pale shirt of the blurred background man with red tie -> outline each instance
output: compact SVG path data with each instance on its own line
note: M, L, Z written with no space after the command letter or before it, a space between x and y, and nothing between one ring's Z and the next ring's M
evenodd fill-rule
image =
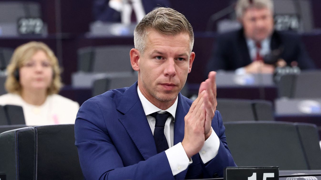
M264 39L263 41L261 41L261 49L259 51L261 57L265 57L267 54L269 54L271 52L270 43L271 43L271 38L270 37L268 37L268 38ZM254 40L247 39L246 40L246 44L247 44L247 49L248 49L248 53L250 55L251 60L255 61L257 47L256 47L256 44L255 44ZM235 73L236 74L245 74L246 73L245 72L245 68L244 67L237 68L235 70Z

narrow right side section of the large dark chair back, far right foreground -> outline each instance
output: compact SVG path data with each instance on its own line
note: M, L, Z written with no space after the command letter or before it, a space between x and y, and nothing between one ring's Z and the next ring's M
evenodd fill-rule
M294 123L298 129L308 168L321 169L321 149L317 126L310 123Z

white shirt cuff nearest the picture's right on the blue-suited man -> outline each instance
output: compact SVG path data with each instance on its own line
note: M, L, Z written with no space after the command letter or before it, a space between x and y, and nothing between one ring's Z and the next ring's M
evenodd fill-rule
M207 163L215 158L220 148L220 139L212 128L212 134L206 139L202 149L198 152L201 156L203 163Z

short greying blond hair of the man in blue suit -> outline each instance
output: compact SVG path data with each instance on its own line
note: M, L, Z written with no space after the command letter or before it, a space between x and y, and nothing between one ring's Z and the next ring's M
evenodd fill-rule
M192 25L186 17L171 8L160 7L144 16L134 30L134 45L141 54L146 47L146 36L151 30L156 30L162 35L178 35L187 33L189 35L189 48L192 52L194 45L194 32Z

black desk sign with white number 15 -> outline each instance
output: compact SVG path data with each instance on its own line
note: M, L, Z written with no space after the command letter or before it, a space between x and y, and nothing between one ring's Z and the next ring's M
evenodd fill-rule
M279 180L279 167L227 167L224 180Z

